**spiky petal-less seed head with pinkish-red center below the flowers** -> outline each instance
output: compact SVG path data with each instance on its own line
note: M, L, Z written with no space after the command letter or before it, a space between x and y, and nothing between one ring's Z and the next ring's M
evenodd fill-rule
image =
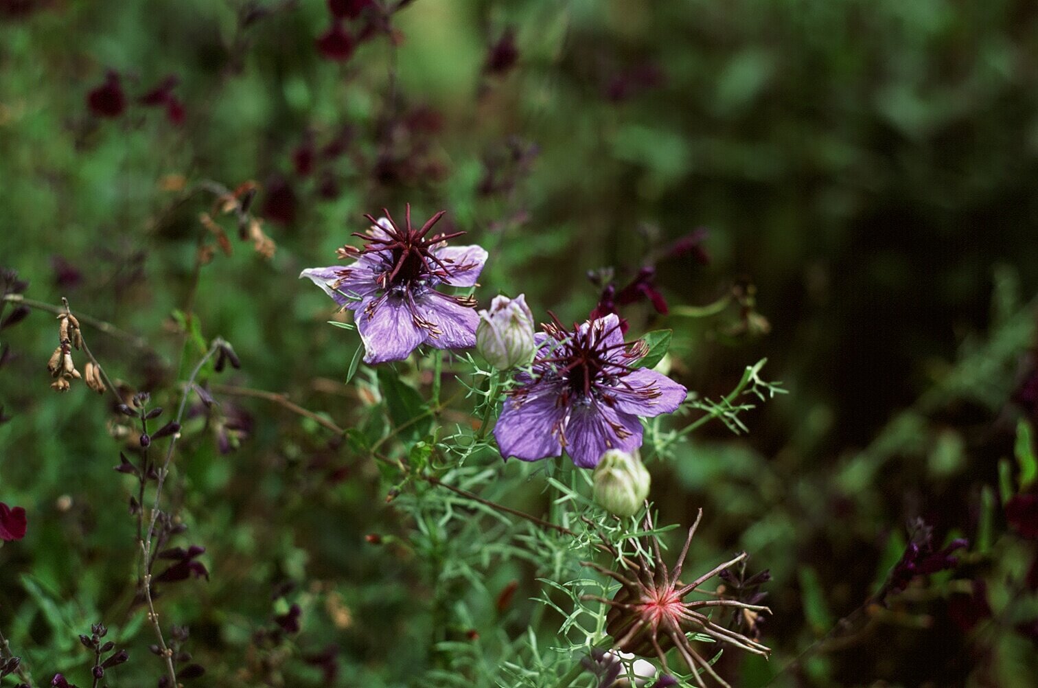
M709 600L685 600L685 597L693 591L701 595L713 595L713 593L696 588L721 571L746 558L746 553L742 552L731 561L715 567L689 583L681 582L681 570L685 557L688 555L688 546L692 542L692 535L695 534L695 528L699 527L702 518L703 510L701 508L695 523L688 529L688 536L685 539L685 545L681 549L681 554L678 556L673 571L668 570L664 563L660 553L659 540L655 535L645 539L645 551L652 552L653 560L651 562L641 551L637 554L638 560L633 561L622 555L610 543L605 542L606 551L612 554L626 571L623 573L612 571L593 561L581 563L612 578L620 583L621 587L611 600L597 596L585 596L584 599L609 605L610 609L606 615L606 632L612 637L614 649L640 657L657 657L663 665L663 670L670 671L666 653L672 648L677 648L678 654L688 666L696 685L706 687L702 676L702 673L706 673L721 686L731 688L714 671L710 661L695 650L687 634L703 633L718 643L727 643L755 655L768 657L771 653L770 649L741 633L715 624L704 612L709 611L711 607L748 609L768 613L771 610L767 607L720 597ZM653 528L649 516L646 516L645 527L647 530Z

